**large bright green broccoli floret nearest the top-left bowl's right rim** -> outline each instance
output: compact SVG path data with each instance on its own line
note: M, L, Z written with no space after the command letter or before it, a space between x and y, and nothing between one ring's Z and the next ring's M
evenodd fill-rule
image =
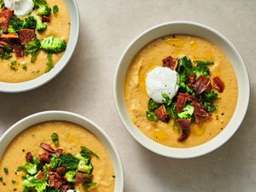
M59 53L67 47L65 40L60 40L54 36L49 36L41 41L41 49L50 53Z

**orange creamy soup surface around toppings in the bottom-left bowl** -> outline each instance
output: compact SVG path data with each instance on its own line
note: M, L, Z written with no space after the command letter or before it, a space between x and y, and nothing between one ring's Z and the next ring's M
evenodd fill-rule
M59 136L59 144L57 148L62 148L65 153L78 154L80 146L90 148L93 152L99 155L91 158L91 163L94 166L93 182L96 182L96 187L91 187L93 192L113 192L114 190L114 171L113 164L110 160L107 149L103 146L90 131L85 130L80 125L76 125L63 121L50 121L22 131L20 135L15 137L12 143L3 154L0 161L0 176L3 177L3 183L0 183L0 191L21 191L23 188L21 184L21 177L24 172L17 172L16 169L26 163L26 153L31 152L33 155L44 153L40 147L40 143L49 143L53 148L55 144L51 141L51 134L56 132ZM9 173L5 174L3 168L7 167ZM16 183L11 180L15 179ZM85 192L82 186L77 186L80 192Z

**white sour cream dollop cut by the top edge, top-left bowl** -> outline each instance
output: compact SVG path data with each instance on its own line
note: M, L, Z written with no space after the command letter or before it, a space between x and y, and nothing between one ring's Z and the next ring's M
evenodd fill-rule
M32 0L4 0L4 4L8 9L14 10L17 16L28 15L34 7Z

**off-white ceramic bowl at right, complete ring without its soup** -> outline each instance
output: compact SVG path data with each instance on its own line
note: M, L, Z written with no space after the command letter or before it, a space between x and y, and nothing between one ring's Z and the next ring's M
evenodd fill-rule
M125 76L132 59L140 49L154 39L170 34L194 35L205 38L211 41L213 44L218 45L218 47L224 51L224 54L231 62L236 72L238 81L238 100L236 110L232 119L230 119L229 124L225 127L224 131L221 131L218 134L217 137L212 138L212 140L207 143L203 143L193 148L170 148L161 145L160 143L155 143L153 140L146 137L136 125L133 125L125 106ZM235 46L216 30L208 26L188 21L163 23L148 29L146 32L143 32L143 34L135 38L128 48L125 49L124 54L120 58L119 65L115 73L113 86L114 102L119 113L119 118L125 125L127 131L130 132L131 136L134 137L138 143L141 143L145 148L148 148L156 154L180 159L192 158L207 154L227 142L241 125L241 122L247 112L250 96L250 84L247 68Z

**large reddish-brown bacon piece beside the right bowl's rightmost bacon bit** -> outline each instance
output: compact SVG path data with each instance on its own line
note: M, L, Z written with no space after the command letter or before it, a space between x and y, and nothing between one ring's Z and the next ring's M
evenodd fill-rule
M197 95L200 95L205 90L212 90L211 79L201 75L196 79L195 84L193 84L193 88Z

